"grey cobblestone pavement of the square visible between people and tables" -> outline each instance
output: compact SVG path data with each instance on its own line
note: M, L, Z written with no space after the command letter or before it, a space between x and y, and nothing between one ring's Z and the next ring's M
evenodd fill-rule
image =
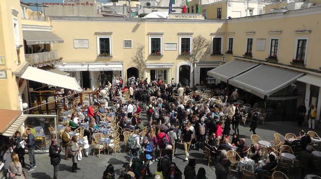
M145 113L144 111L142 113ZM144 117L144 116L143 116ZM146 121L144 121L146 123ZM240 134L241 137L246 139L246 142L250 144L250 135L252 134L249 131L249 125L247 124L245 127L240 126ZM303 124L303 129L308 131L307 124ZM297 126L297 123L294 122L268 122L265 125L258 125L256 133L266 141L273 141L273 134L275 132L281 133L285 135L285 133L292 132L294 134L298 134L300 131L300 127ZM317 128L315 130L317 133L320 133L320 124L317 122ZM233 130L231 131L232 134ZM121 143L123 145L123 143ZM176 162L178 168L183 173L184 168L188 161L183 161L185 158L183 146L181 144L178 145L178 152L176 159L173 159L173 162ZM122 147L123 148L123 147ZM92 151L92 150L90 150ZM207 177L209 179L215 179L215 167L212 162L210 166L207 165L207 160L204 158L203 152L191 150L190 158L196 158L196 173L198 168L204 167L206 170ZM63 152L61 153L61 158L63 158ZM125 162L128 162L129 156L125 154L122 150L122 153L115 153L105 155L101 154L100 158L96 156L92 156L92 152L89 152L89 157L84 157L82 161L78 162L78 167L81 170L78 173L71 173L71 160L61 160L59 165L59 178L60 179L101 179L104 170L106 169L108 164L113 164L116 172L116 179L118 178L119 169ZM28 154L25 155L26 163L29 163ZM50 158L48 154L36 154L36 169L32 172L26 172L28 179L51 179L53 177L54 168L50 164ZM29 166L27 164L27 166ZM157 167L157 162L153 162L150 166L151 172L154 174ZM26 169L24 169L26 171ZM299 173L297 170L290 172L290 179L299 179ZM184 176L182 176L184 178ZM232 172L232 175L229 176L229 179L241 178L237 176L237 173ZM151 177L152 179L152 177Z

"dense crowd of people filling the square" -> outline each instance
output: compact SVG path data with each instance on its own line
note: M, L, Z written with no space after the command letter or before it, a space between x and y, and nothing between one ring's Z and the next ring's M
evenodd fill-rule
M202 92L192 91L188 86L183 88L181 83L164 84L160 79L147 83L146 79L128 79L128 85L123 87L121 80L116 80L114 85L104 81L105 86L95 90L93 95L93 106L98 106L94 112L92 106L82 107L76 104L73 108L75 113L71 114L69 126L65 127L62 133L62 145L52 139L50 146L51 164L54 165L54 179L58 178L58 165L60 163L61 147L65 148L65 160L72 161L72 172L79 170L77 162L81 155L80 147L77 144L77 136L70 136L72 128L77 128L81 123L89 124L85 130L83 143L84 155L89 153L89 138L97 133L101 114L112 111L116 113L117 122L126 131L132 131L127 139L126 147L130 150L129 161L121 168L119 179L141 179L151 176L149 165L157 162L155 171L156 179L207 179L204 168L199 168L196 173L196 160L190 158L190 150L203 151L210 149L211 155L217 158L215 174L217 179L227 179L229 174L229 161L225 154L227 151L235 150L243 158L249 157L255 162L262 158L261 148L257 143L248 145L244 138L240 138L239 124L244 116L243 108L235 103L238 97L237 90L214 90L212 96L202 95ZM123 101L122 96L128 93L130 100ZM205 91L204 91L205 93ZM110 102L105 107L103 100ZM110 107L113 106L113 107ZM143 123L143 113L146 113L147 123ZM256 134L258 125L258 114L253 113L251 117L250 131ZM232 126L231 126L232 125ZM140 131L147 128L146 135L140 135ZM231 130L232 139L230 139ZM30 168L28 172L36 167L34 156L34 136L27 129L26 147L29 152ZM310 151L307 136L301 131L302 151ZM13 151L7 156L12 158L12 163L7 164L6 169L9 177L19 179L22 167L24 166L24 149L19 145L22 141L21 134L14 136ZM310 140L311 142L311 140ZM183 145L185 158L188 161L183 172L181 172L172 159L176 158L177 147ZM236 149L234 148L236 146ZM250 148L250 150L249 150ZM10 157L9 157L10 155ZM303 154L302 154L303 155ZM257 173L276 166L276 154L269 148L266 157L266 165L258 167ZM81 157L80 157L81 158ZM302 160L304 161L304 159ZM19 164L20 163L20 164ZM15 170L16 169L16 170ZM103 179L114 179L115 172L111 164L103 173Z

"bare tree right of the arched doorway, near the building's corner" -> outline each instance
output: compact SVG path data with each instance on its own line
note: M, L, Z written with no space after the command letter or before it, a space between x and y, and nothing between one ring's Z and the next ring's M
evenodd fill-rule
M186 61L192 66L192 72L193 72L193 87L195 86L195 66L196 62L201 61L206 57L207 54L209 54L209 46L211 44L211 41L206 39L204 36L196 36L196 38L193 39L193 50L191 53L191 56L186 59Z

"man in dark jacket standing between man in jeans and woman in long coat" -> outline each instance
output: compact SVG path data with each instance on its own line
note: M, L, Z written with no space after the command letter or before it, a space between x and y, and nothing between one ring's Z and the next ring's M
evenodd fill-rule
M52 139L49 147L50 163L54 165L54 179L58 178L61 148L57 145L57 140Z

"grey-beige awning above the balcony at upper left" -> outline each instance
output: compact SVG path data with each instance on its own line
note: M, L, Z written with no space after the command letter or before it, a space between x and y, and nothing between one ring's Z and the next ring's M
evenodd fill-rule
M51 31L22 31L27 45L63 43L64 40Z

